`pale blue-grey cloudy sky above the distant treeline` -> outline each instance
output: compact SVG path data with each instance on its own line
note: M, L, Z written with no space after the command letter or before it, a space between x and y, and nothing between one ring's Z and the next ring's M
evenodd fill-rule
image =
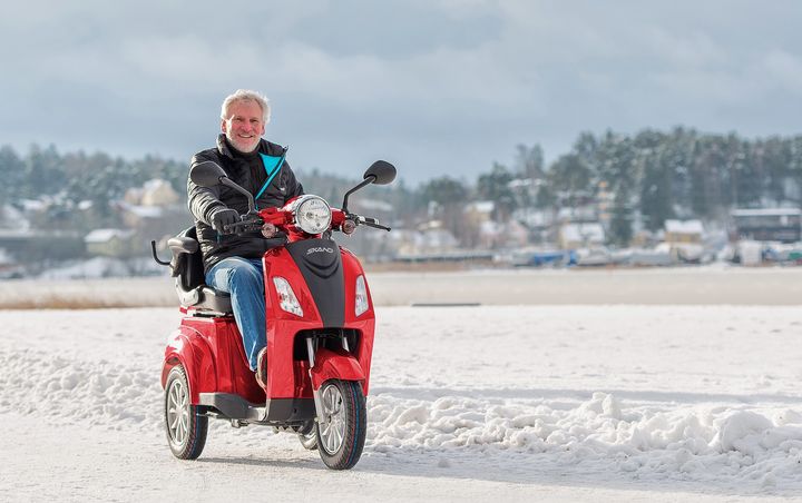
M0 18L0 144L188 159L237 88L293 166L412 185L583 130L796 135L800 26L791 0L30 0Z

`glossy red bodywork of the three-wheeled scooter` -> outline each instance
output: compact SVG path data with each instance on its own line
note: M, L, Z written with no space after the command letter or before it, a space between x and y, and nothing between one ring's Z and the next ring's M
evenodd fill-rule
M358 347L351 354L319 351L315 359L315 386L327 378L361 381L365 395L370 379L373 353L375 317L368 288L368 310L355 315L356 277L363 275L362 266L349 250L341 248L345 313L342 328L359 333ZM172 334L165 351L162 373L164 387L169 369L177 363L184 365L189 381L190 400L198 404L200 393L232 393L251 403L267 398L311 398L312 382L306 361L293 359L295 334L305 329L325 328L306 283L295 262L284 247L274 248L264 256L265 305L267 328L267 386L263 391L251 372L242 337L234 317L185 316L180 327ZM286 279L303 309L304 316L284 312L273 284L273 277ZM265 396L266 395L266 396Z

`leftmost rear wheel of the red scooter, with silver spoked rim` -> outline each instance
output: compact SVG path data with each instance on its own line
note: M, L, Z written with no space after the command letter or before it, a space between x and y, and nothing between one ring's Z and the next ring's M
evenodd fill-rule
M195 460L206 445L208 417L189 400L189 384L182 365L173 367L165 385L165 430L173 455Z

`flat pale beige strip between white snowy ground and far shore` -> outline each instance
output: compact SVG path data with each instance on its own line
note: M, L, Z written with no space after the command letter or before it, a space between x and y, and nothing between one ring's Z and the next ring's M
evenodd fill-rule
M368 270L375 306L802 305L802 267ZM0 309L178 307L169 276L12 279Z

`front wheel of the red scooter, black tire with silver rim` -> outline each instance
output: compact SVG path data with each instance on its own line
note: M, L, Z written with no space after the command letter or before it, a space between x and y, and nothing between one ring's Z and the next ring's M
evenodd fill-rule
M368 430L362 385L351 381L326 381L321 386L321 402L330 421L315 427L317 451L330 469L349 470L362 455Z

